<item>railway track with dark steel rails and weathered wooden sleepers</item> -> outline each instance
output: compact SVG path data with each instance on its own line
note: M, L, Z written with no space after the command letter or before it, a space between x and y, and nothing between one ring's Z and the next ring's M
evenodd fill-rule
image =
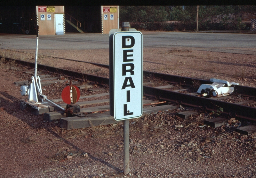
M5 58L6 60L13 60L10 58ZM34 63L29 63L21 60L15 60L16 63L19 63L21 65L28 66L30 68L34 67ZM101 64L93 63L94 65L100 66ZM103 65L103 67L108 67L107 65ZM90 74L84 74L79 73L75 71L68 71L64 69L44 66L44 65L38 65L38 70L42 70L48 73L54 73L59 75L64 75L68 77L70 80L76 80L77 86L82 89L83 85L81 85L81 82L83 81L90 81L93 83L98 84L100 86L99 88L107 91L101 94L92 95L90 97L97 97L97 96L107 96L108 93L108 78L105 77L99 77L95 75ZM180 105L186 105L194 108L198 108L201 111L213 111L218 112L222 115L222 119L215 120L214 122L218 123L227 123L228 118L236 118L240 120L245 121L256 121L256 107L254 106L255 98L256 98L256 88L252 87L246 87L246 86L240 86L240 85L234 85L234 95L233 96L226 96L226 97L215 97L215 98L206 98L206 97L198 97L196 95L196 88L198 88L201 84L211 84L211 81L207 80L201 80L201 79L195 79L195 78L189 78L189 77L181 77L181 76L174 76L174 75L168 75L168 74L160 74L160 73L152 73L148 71L143 71L144 78L155 78L157 80L164 82L165 84L162 86L154 86L154 82L144 82L143 83L143 94L145 99L151 99L151 100L144 100L145 108L143 109L143 112L150 113L150 112L157 112L159 110L167 110L172 108L180 107ZM47 78L46 78L47 79ZM48 78L48 81L45 81L45 84L51 83L49 80L55 80L56 78ZM68 81L63 80L63 82ZM79 82L80 81L80 82ZM17 85L23 85L24 82L17 82ZM53 81L56 82L56 81ZM58 82L61 82L60 80ZM43 82L44 83L44 82ZM75 83L73 83L75 85ZM157 84L156 84L157 85ZM87 85L88 87L89 85ZM177 88L177 86L179 86ZM86 88L87 88L86 87ZM83 96L86 97L86 96ZM82 97L82 98L83 98ZM89 97L89 96L87 96ZM224 101L225 99L234 97L244 97L244 100L242 102L238 103L230 103ZM152 101L153 100L153 101ZM55 99L52 100L54 102L59 102L60 100ZM98 100L98 101L91 101L91 102L80 102L77 104L80 104L80 106L85 105L92 105L92 104L108 104L109 100ZM247 106L249 105L251 106ZM57 110L56 107L52 107L51 109L48 109L48 112L44 109L41 111L34 111L34 114L41 114L44 113L44 119L47 121L52 121L56 119L60 119L60 127L66 128L66 129L72 129L72 128L83 128L83 127L90 127L92 125L105 125L105 124L111 124L116 123L114 119L109 116L108 110L109 105L103 105L103 106L97 106L97 107L90 107L90 108L83 108L81 109L81 112L84 112L87 114L86 118L77 118L77 117L71 117L71 118L63 118L64 112L63 111L54 111ZM247 104L247 105L246 105ZM65 104L60 104L62 107L65 107ZM147 107L148 105L155 105L156 107ZM20 106L23 108L24 106L21 104ZM25 107L24 107L25 108ZM23 108L23 109L24 109ZM49 112L54 111L54 112ZM101 113L101 114L95 114L95 113ZM194 112L187 112L184 113L183 116L186 118L187 116L191 116L195 114ZM196 113L198 114L198 113ZM181 117L182 113L181 113ZM102 122L102 120L105 120L105 122ZM87 124L84 124L84 123ZM83 123L81 125L81 123ZM209 124L209 123L208 123ZM210 123L211 125L211 123ZM218 125L218 124L217 124ZM248 133L247 133L248 134Z

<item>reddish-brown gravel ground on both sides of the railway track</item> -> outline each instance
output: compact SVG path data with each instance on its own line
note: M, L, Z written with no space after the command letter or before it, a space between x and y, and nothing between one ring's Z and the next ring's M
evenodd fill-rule
M254 49L255 50L255 49ZM34 62L34 50L0 49L0 56ZM108 77L108 69L76 59L108 65L108 49L41 50L38 63ZM130 120L130 173L123 175L123 128L118 124L65 130L59 122L20 110L20 86L27 74L0 62L0 177L2 178L171 178L255 177L256 134L234 132L239 124L204 126L217 113L181 119L180 107ZM256 87L254 55L172 48L144 48L143 70L200 79L218 78ZM40 71L39 71L40 73ZM45 87L46 91L51 90ZM49 93L49 92L48 92ZM50 92L51 93L51 92ZM49 93L49 99L60 98ZM100 99L100 98L98 98ZM182 125L182 127L181 127Z

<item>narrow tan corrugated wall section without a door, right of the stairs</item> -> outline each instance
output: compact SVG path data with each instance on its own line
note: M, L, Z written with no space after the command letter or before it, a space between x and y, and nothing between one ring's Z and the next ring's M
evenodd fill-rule
M107 18L105 17L107 15ZM113 20L111 18L113 15ZM111 29L119 28L119 6L104 5L101 6L101 33L108 34Z

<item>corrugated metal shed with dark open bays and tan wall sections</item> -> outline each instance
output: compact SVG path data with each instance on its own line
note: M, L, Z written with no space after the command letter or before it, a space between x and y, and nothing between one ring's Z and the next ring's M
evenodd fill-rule
M65 10L64 10L65 9ZM108 34L119 28L119 6L1 7L0 33L64 35L65 32Z

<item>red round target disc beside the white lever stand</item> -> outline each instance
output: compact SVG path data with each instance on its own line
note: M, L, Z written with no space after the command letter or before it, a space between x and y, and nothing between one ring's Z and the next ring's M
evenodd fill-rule
M72 85L72 97L76 99L76 101L73 101L73 104L75 104L79 98L80 98L80 90ZM65 87L61 92L61 98L62 100L67 103L71 104L71 98L70 98L70 86Z

